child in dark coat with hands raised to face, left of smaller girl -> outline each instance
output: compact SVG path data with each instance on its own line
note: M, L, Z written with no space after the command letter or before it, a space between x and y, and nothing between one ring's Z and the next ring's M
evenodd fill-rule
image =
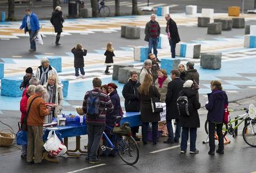
M82 44L77 44L76 48L73 48L71 52L74 54L74 67L76 70L76 79L79 78L79 69L80 73L82 74L82 78L85 78L85 70L83 67L85 67L85 63L83 61L83 56L86 56L87 50L82 48Z

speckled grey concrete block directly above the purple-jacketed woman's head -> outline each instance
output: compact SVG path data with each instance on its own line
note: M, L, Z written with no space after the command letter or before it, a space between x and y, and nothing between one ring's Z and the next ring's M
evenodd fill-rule
M201 54L201 67L204 69L220 69L221 53L204 53Z

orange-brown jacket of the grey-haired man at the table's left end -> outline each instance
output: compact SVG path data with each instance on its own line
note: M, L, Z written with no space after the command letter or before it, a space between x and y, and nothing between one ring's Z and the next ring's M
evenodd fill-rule
M38 94L33 94L29 97L27 102L27 108L31 103L32 99ZM43 126L43 121L45 116L48 115L48 110L46 109L45 100L42 98L36 98L30 108L28 118L27 118L27 125L29 126Z

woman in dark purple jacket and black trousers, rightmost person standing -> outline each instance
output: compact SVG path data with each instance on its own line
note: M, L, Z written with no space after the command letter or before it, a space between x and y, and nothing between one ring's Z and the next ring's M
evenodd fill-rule
M224 138L222 133L224 105L228 105L228 96L222 90L219 80L212 80L210 83L211 93L208 94L208 103L205 108L208 110L207 119L209 124L209 155L215 154L215 127L219 139L219 148L216 150L219 154L224 154Z

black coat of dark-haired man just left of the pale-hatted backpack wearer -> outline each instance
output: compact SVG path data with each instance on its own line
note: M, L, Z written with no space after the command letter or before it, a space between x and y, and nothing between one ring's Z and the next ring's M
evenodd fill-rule
M177 107L177 99L179 97L180 91L183 89L183 84L185 82L180 78L175 78L171 80L168 84L166 93L166 120L178 119L179 111Z

